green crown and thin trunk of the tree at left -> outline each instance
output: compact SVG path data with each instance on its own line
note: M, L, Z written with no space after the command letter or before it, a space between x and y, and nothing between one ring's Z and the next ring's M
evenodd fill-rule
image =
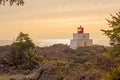
M19 63L21 64L24 61L26 50L35 48L35 44L28 34L20 32L16 41L12 44L12 47L19 53Z

